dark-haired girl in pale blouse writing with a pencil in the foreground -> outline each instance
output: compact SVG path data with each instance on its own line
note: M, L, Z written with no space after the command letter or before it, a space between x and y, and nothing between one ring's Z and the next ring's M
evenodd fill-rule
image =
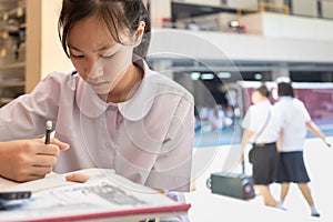
M0 141L9 141L0 144L0 175L29 181L109 168L154 189L189 191L193 98L149 69L149 32L141 0L63 0L59 36L75 71L50 73L0 110ZM47 120L57 139L29 140L43 135Z

